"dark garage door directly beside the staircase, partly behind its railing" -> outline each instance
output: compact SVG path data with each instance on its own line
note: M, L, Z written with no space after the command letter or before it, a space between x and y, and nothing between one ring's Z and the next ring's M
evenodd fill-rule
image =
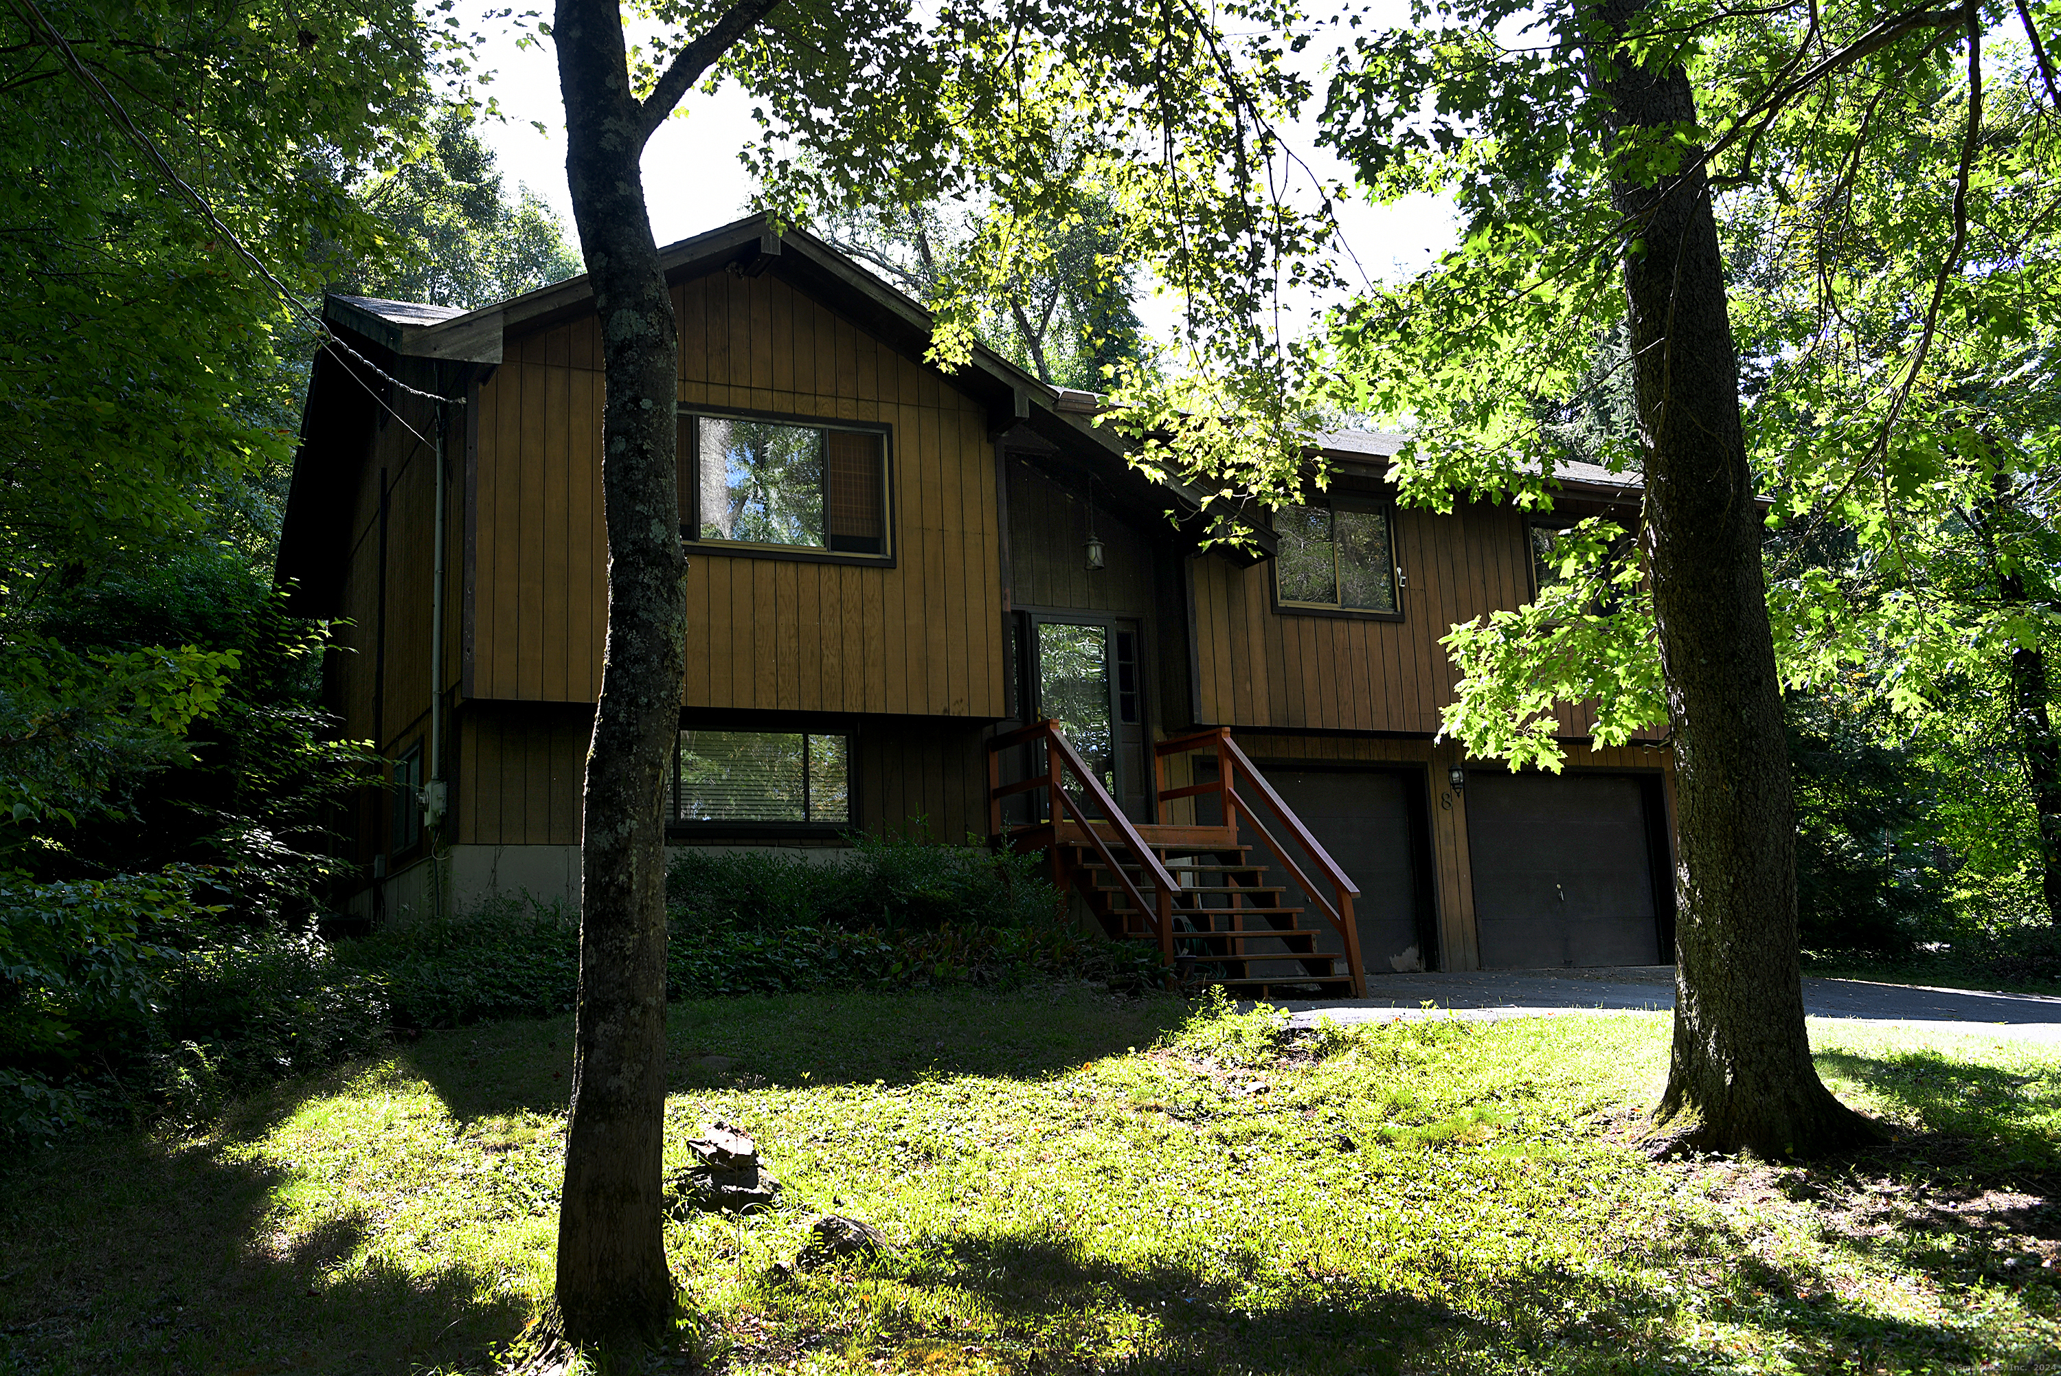
M1420 803L1412 797L1412 793L1422 795L1422 783L1412 775L1377 770L1294 770L1263 764L1261 772L1282 801L1303 818L1311 836L1360 886L1358 898L1352 900L1352 917L1360 931L1360 964L1366 972L1428 970L1437 952L1428 945L1430 921L1424 913L1428 892L1418 855L1422 822ZM1263 810L1261 820L1280 836L1272 812ZM1290 845L1286 836L1282 842ZM1305 863L1292 845L1288 853L1298 865ZM1288 902L1300 902L1294 882L1278 869L1268 882L1288 888ZM1325 898L1329 896L1325 892ZM1311 908L1305 921L1325 929L1325 939L1319 941L1323 950L1340 950L1342 943L1321 910Z

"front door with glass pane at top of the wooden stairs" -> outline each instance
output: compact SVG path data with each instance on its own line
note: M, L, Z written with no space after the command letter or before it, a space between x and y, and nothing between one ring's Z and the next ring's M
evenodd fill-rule
M1138 622L1028 616L1030 717L1051 717L1123 816L1152 820Z

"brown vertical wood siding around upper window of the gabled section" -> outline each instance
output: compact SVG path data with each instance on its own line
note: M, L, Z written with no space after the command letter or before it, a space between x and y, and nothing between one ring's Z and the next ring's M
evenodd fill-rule
M695 546L686 707L1000 717L987 412L775 274L674 288L680 402L890 426L892 566ZM480 389L472 692L592 702L606 630L592 319L507 342Z

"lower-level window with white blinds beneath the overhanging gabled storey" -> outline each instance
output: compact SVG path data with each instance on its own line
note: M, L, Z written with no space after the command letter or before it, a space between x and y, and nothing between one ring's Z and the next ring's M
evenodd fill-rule
M851 822L849 742L802 731L680 731L674 822Z

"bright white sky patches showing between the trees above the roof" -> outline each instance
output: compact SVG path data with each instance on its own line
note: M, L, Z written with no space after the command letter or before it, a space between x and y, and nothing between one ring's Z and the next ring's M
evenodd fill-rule
M505 10L501 10L505 12ZM476 12L476 29L488 35L480 54L493 72L484 87L501 107L501 122L480 130L499 157L509 190L528 185L542 196L567 239L573 233L573 208L565 187L565 105L559 99L559 68L550 41L517 47L517 31L507 21L491 23ZM1313 45L1315 47L1315 45ZM544 132L536 126L542 124ZM680 109L645 146L645 200L651 208L651 233L660 245L728 225L744 214L752 179L738 163L738 150L756 136L750 103L736 87L715 95L690 91ZM1317 175L1327 179L1342 165L1313 146L1309 130L1284 132L1286 142ZM1453 214L1443 200L1414 196L1393 206L1350 204L1340 214L1346 243L1362 270L1379 280L1395 280L1416 272L1437 253L1455 243ZM1300 303L1309 313L1319 303ZM1158 338L1169 338L1173 303L1142 301L1140 315Z

